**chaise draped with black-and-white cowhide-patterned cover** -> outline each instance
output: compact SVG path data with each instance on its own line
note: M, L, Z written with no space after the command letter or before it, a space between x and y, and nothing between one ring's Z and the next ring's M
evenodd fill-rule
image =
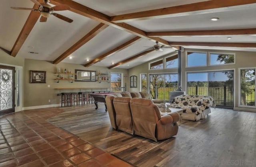
M211 113L211 107L215 107L211 96L180 95L170 102L172 108L181 108L182 119L198 121L206 118Z

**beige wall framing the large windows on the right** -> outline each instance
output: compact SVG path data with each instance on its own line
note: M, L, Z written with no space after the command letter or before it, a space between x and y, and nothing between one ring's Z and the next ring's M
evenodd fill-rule
M196 67L196 68L186 68L186 51L211 51L217 53L235 53L236 54L236 64L234 65L218 65L210 67ZM165 55L166 57L168 55ZM159 58L158 58L159 59ZM157 59L156 59L157 60ZM152 60L154 61L154 60ZM151 62L152 62L151 61ZM235 107L238 107L238 69L242 67L256 67L256 53L255 52L246 52L246 51L220 51L220 50L200 50L200 49L187 49L182 52L182 88L186 90L186 72L192 71L216 71L216 70L225 70L225 69L234 69L235 73ZM177 69L165 69L165 70L148 70L148 63L144 63L140 66L129 69L129 76L136 75L138 76L138 88L129 88L129 91L139 91L140 90L140 73L177 73ZM129 83L129 82L128 82ZM129 86L129 85L128 85ZM242 109L242 108L241 108ZM255 110L255 109L254 109Z

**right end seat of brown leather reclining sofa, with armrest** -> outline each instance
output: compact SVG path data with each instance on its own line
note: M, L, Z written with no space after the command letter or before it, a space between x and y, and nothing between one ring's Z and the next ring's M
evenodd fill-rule
M132 98L130 108L134 134L157 141L178 133L177 112L161 116L158 106L145 98Z

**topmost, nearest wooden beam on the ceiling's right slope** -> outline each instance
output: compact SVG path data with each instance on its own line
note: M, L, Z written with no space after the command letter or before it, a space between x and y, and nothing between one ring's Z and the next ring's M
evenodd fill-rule
M205 14L212 12L224 12L235 10L230 8L233 6L250 5L256 3L255 0L208 0L204 2L197 2L193 4L185 4L179 6L172 6L168 8L161 8L155 10L147 10L142 12L134 12L129 14L122 14L112 16L111 21L131 22L148 19L170 18L176 16L187 16L191 14ZM171 5L171 4L170 4Z

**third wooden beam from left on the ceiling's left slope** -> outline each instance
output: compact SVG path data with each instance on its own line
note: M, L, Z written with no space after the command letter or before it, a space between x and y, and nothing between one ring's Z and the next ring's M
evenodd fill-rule
M103 59L105 59L106 57L108 57L110 55L113 55L114 53L117 53L118 51L121 51L121 50L125 49L126 47L132 45L134 42L138 41L138 39L140 39L140 38L141 37L137 36L137 37L135 37L135 38L133 38L133 39L123 43L122 45L112 49L111 51L108 51L107 53L104 53L103 55L100 55L99 57L97 57L96 59L90 61L89 63L86 63L84 65L84 67L89 67L89 66L91 66L91 65L93 65L93 64L95 64L95 63L97 63L97 62L99 62L99 61L101 61Z

